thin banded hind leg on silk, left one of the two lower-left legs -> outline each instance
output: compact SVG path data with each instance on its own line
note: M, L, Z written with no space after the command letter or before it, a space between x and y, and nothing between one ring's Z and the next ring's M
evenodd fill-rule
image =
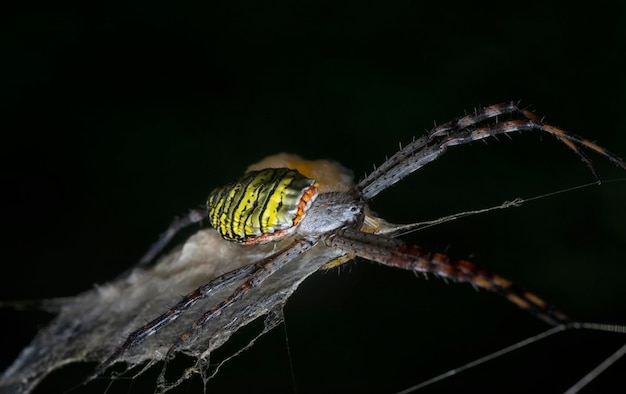
M256 269L258 269L256 264L250 264L238 268L236 270L230 271L224 275L221 275L209 283L200 286L196 290L187 294L180 300L176 305L171 307L167 312L161 314L156 319L150 321L145 324L141 328L133 331L126 341L120 346L105 362L100 364L93 376L98 376L104 373L104 371L109 368L115 361L130 349L133 346L137 346L141 342L143 342L149 336L155 334L169 323L176 320L183 312L191 308L195 303L202 300L203 298L209 297L211 294L219 291L221 288L232 284L233 282L244 280L249 277Z

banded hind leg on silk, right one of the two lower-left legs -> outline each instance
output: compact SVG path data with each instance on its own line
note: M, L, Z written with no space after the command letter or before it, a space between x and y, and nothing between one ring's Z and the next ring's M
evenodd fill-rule
M178 341L170 347L165 356L166 360L173 357L174 353L181 348L185 341L194 337L194 333L200 330L205 324L207 324L213 317L218 316L225 308L233 304L235 301L243 297L248 290L259 286L265 279L269 278L272 274L282 268L285 264L294 260L300 254L309 250L315 243L316 239L301 238L296 240L286 249L270 256L263 261L254 264L252 272L247 276L245 282L243 282L235 291L228 296L224 301L220 302L209 311L205 312L200 319L195 321L191 329L180 336Z

